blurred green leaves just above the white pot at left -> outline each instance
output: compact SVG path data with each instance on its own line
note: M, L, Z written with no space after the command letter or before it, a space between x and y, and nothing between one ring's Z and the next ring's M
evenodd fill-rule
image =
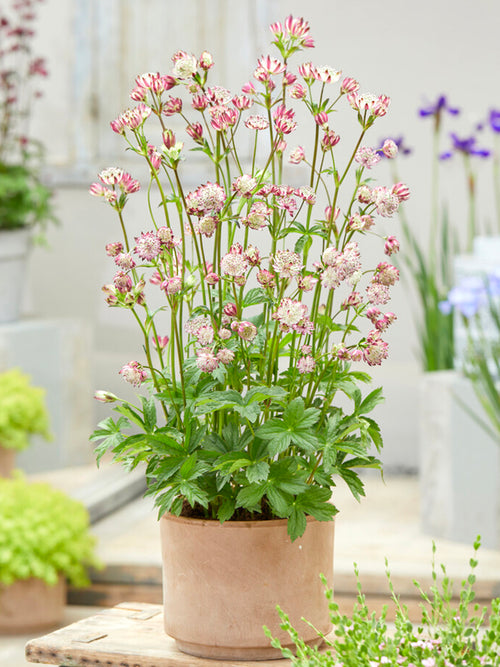
M55 222L52 192L21 164L0 163L0 230L45 228Z

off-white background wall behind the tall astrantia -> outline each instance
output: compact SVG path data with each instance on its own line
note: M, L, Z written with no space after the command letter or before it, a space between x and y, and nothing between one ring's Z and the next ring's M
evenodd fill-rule
M166 72L178 49L212 52L219 80L236 91L250 78L256 57L267 53L268 24L290 13L304 15L316 39L317 49L304 59L341 68L366 92L392 98L372 141L404 134L415 149L401 161L400 172L412 189L408 213L422 239L429 233L431 132L417 108L446 93L468 110L468 118L459 121L467 128L474 117L500 107L497 0L46 0L38 39L51 77L34 125L48 149L47 176L56 187L62 225L49 233L51 249L36 250L32 257L27 312L91 323L96 388L123 394L117 372L137 356L138 344L127 313L103 303L100 287L111 277L104 245L115 238L116 221L108 207L87 194L100 169L126 164L109 121L129 106L134 77L148 70ZM383 169L381 182L389 177ZM446 170L453 223L464 230L461 167L454 161ZM492 211L487 178L489 173L481 190L485 216ZM132 202L129 217L139 227L146 225L140 199ZM397 229L396 221L388 224L391 233ZM419 368L415 300L408 283L398 286L391 307L399 318L389 336L391 356L373 373L387 395L379 409L384 458L389 468L415 469ZM106 412L96 406L96 419Z

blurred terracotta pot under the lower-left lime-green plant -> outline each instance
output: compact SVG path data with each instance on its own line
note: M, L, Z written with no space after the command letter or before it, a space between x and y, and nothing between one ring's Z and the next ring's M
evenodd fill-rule
M44 630L60 625L66 604L66 581L55 586L41 579L0 584L0 634Z

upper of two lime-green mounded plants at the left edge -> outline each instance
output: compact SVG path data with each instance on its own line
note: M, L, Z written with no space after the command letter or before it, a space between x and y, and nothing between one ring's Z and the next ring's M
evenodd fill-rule
M12 368L0 373L0 477L11 474L16 453L29 446L32 435L51 438L45 389Z

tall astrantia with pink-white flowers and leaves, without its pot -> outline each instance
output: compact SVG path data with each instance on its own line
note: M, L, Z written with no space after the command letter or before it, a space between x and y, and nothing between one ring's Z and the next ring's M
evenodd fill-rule
M359 498L357 469L380 465L372 446L382 439L368 415L381 390L363 397L359 385L370 381L363 364L388 355L384 333L396 316L381 307L398 271L387 261L365 266L359 241L373 238L381 260L396 252L388 218L409 191L372 180L380 152L397 152L391 141L365 143L389 98L361 94L333 67L293 69L292 54L314 45L303 19L271 32L278 57L259 59L242 94L209 83L209 53L179 51L169 74L137 77L136 106L111 123L150 173L151 229L135 238L124 209L138 181L113 167L90 190L123 232L107 246L116 273L106 300L130 310L144 335L144 357L120 373L149 395L139 405L120 400L118 419L93 439L98 457L111 450L127 466L147 461L160 513L282 517L296 538L306 514L336 513L336 477ZM339 153L342 107L360 132ZM309 120L308 147L293 141L297 110ZM182 140L171 116L186 123ZM189 143L205 176L186 188Z

